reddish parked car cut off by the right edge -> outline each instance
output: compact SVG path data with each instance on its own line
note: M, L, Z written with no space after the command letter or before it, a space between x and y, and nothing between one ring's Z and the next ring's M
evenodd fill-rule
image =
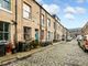
M85 52L88 51L88 35L82 36L82 40L78 41L78 43Z

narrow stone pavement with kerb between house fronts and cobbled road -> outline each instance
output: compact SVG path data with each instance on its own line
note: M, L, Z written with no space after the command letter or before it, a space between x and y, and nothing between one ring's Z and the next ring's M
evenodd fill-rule
M62 42L58 42L58 43L62 43ZM58 43L53 43L53 45L56 45ZM16 53L16 54L8 54L6 56L0 57L0 66L6 65L6 64L10 64L10 63L19 61L19 59L30 57L32 54L44 51L44 50L50 48L50 47L52 47L52 45L48 45L48 46L45 46L45 47L34 48L34 50L31 50L29 52L21 52L21 53Z

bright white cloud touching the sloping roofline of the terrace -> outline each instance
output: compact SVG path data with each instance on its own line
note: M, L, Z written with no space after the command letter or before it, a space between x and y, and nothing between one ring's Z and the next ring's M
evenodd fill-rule
M57 4L43 4L43 8L51 14L58 14L59 7Z

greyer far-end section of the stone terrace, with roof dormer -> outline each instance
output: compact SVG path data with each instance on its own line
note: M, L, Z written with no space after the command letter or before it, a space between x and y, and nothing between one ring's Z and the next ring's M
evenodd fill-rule
M55 18L55 23L54 23L54 40L55 41L62 41L63 38L65 38L66 36L66 32L68 32L66 30L66 28L64 28L61 24L61 20L56 16L53 15Z

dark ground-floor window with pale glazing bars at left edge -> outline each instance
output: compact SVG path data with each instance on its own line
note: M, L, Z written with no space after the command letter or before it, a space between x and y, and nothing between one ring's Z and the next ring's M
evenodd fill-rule
M9 40L9 23L3 23L1 22L0 23L0 41L2 40L6 40L8 41Z

